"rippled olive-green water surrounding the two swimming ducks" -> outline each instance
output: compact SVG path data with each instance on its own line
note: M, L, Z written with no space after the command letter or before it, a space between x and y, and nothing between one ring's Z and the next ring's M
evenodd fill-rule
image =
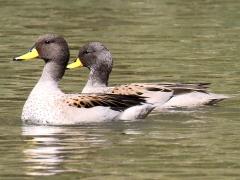
M0 0L0 179L239 179L239 9L237 0ZM233 98L134 122L22 125L43 62L12 57L45 33L63 35L71 59L103 42L110 84L210 82ZM61 88L80 92L87 73L68 71Z

